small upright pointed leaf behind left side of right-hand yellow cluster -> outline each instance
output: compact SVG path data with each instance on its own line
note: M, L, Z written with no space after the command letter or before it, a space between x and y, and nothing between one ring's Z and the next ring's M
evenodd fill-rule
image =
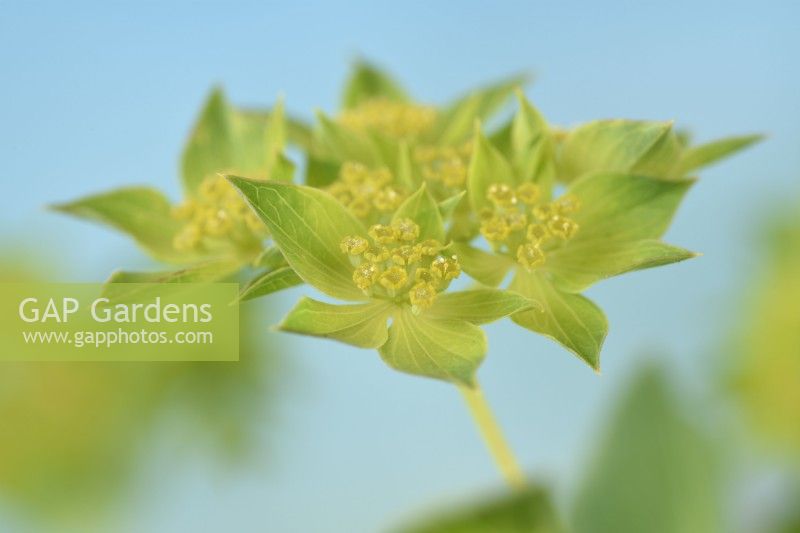
M477 213L484 207L490 207L486 191L491 185L497 183L513 187L517 180L511 164L489 143L478 127L475 128L474 146L467 171L467 195L472 210Z

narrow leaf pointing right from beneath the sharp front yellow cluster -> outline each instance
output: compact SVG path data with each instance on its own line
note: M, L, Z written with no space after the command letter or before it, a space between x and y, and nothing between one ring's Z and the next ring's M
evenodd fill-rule
M475 289L438 295L424 315L480 325L532 308L541 309L541 305L521 294L501 289Z

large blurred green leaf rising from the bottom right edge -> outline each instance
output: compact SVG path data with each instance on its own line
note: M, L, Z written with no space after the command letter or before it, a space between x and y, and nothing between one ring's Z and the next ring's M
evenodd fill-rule
M576 533L720 531L716 453L663 371L639 372L578 491Z

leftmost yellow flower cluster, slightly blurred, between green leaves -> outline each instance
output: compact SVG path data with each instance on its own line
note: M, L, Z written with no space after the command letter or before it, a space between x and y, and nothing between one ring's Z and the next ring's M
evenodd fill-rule
M177 250L199 250L207 239L252 242L267 234L261 220L221 176L203 180L197 195L175 206L172 217L185 223L173 240Z

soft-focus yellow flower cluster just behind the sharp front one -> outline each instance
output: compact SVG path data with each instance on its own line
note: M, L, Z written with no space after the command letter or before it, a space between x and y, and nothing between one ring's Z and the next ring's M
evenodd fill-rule
M370 170L361 163L347 162L339 170L339 179L328 187L334 197L355 216L368 220L395 211L405 195L391 184L389 169Z

